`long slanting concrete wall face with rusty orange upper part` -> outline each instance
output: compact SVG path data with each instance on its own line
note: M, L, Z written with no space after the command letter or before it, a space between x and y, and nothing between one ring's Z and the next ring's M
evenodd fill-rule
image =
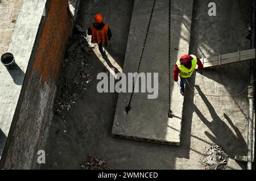
M46 2L18 105L3 150L2 169L39 169L38 150L44 149L61 62L71 31L68 1Z

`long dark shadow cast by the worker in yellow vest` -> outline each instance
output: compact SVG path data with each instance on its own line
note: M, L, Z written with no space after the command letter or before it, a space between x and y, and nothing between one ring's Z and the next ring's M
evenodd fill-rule
M217 145L222 146L224 150L227 151L229 155L246 155L247 154L247 144L243 139L240 130L233 124L229 116L224 113L225 119L228 121L230 127L233 128L234 134L230 127L217 115L212 104L203 94L199 86L195 86L199 92L201 98L203 99L205 105L208 107L212 121L205 118L203 113L195 106L195 112L200 117L201 121L210 129L214 135L205 131L205 134Z

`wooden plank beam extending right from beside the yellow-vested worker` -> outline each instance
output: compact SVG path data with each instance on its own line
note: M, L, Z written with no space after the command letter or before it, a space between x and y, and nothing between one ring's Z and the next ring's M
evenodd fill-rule
M228 54L219 54L218 56L203 57L204 68L232 64L240 61L255 59L255 49L243 50Z

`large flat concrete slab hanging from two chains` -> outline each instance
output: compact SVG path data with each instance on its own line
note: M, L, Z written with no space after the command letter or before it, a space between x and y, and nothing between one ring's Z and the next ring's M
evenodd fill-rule
M142 41L150 16L152 1L136 0L131 19L123 73L135 72ZM178 48L172 60L188 53L193 1L172 1L171 48ZM171 65L171 69L174 65ZM131 110L125 107L130 93L120 93L112 129L113 136L135 140L180 145L183 96L179 87L171 81L172 119L168 119L168 1L156 1L154 16L140 72L158 73L158 98L147 99L146 93L135 93Z

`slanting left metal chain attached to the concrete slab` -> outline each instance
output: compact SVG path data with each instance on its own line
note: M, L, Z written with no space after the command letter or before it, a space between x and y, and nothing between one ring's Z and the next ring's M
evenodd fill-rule
M147 36L148 36L148 32L149 32L149 30L150 30L150 24L151 24L152 16L153 16L154 9L155 9L155 2L156 2L156 0L153 1L153 5L152 5L152 9L151 9L151 14L150 14L150 19L149 19L148 24L147 24L147 30L146 30L146 35L145 35L145 37L144 37L144 42L143 42L143 46L142 46L142 50L141 50L141 56L139 57L139 61L138 61L137 73L139 73L139 68L141 67L141 61L142 61L144 49L145 49L145 46L146 46ZM128 106L125 108L126 113L128 113L128 112L130 111L130 109L131 109L131 99L133 99L134 82L135 82L136 80L137 80L137 78L135 78L135 80L133 81L133 92L131 92L129 104L128 104Z

